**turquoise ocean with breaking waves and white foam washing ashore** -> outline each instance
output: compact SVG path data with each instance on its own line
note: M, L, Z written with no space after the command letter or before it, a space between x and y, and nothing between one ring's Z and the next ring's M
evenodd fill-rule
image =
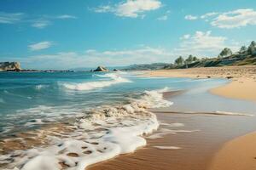
M196 96L201 91L206 97L207 89L228 82L142 74L0 72L0 137L15 142L18 137L27 143L15 150L3 144L0 165L22 170L84 169L133 152L146 145L143 135L159 127L157 117L148 109L177 110L176 102L179 109L186 108L200 101ZM163 93L177 90L190 98L163 98Z

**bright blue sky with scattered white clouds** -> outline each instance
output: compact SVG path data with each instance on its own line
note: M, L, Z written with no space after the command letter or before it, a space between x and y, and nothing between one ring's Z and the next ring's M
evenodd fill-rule
M1 0L0 62L24 69L171 63L256 40L255 0Z

